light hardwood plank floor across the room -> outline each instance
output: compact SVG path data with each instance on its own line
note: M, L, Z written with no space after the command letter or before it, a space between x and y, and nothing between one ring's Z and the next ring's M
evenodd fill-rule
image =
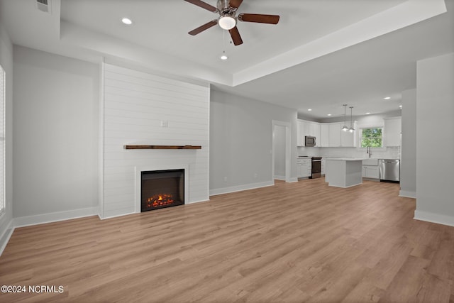
M454 302L454 227L399 184L323 178L143 214L16 228L0 302Z

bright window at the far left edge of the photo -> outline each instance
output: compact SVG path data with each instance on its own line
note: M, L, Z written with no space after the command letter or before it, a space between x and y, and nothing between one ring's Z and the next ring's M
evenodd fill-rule
M5 209L5 71L0 65L0 214Z

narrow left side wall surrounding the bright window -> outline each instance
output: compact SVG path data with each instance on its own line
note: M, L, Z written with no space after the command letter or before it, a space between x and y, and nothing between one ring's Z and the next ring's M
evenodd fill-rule
M4 214L0 215L0 254L11 236L13 222L13 44L0 23L0 65L6 75L6 154L5 154L5 199Z

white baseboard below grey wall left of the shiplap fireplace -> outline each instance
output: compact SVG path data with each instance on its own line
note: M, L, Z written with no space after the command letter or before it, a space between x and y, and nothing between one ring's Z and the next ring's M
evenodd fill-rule
M99 207L88 207L86 209L74 209L71 211L58 211L50 214L38 214L35 216L20 216L14 218L14 227L31 226L50 222L64 221L82 218L84 216L99 216Z

